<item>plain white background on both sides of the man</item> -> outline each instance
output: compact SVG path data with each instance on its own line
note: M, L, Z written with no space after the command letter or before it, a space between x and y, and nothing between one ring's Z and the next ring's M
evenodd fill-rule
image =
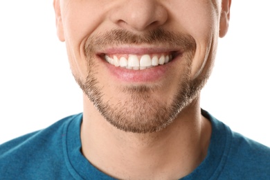
M270 146L270 3L233 0L201 107ZM0 1L0 143L82 111L53 1Z

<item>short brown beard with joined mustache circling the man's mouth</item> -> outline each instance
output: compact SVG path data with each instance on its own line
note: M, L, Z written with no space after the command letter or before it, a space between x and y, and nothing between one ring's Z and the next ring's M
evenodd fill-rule
M105 46L118 44L163 44L169 48L183 51L183 66L179 67L177 87L168 96L168 102L154 96L161 91L159 84L119 85L114 88L124 98L108 96L107 84L99 80L98 63L95 52ZM100 114L114 127L125 132L152 133L168 127L181 111L199 95L208 79L208 75L191 78L192 59L196 51L196 42L189 35L172 33L162 29L153 30L145 35L134 35L126 30L111 30L104 34L93 35L87 39L84 55L87 60L87 78L82 80L74 75L76 82ZM178 70L177 70L178 71Z

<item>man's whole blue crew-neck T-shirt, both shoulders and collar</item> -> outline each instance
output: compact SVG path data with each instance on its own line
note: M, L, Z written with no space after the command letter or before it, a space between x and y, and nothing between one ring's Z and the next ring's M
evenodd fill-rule
M270 148L232 132L208 112L212 124L206 159L182 179L270 179ZM0 145L0 179L114 179L81 153L82 114Z

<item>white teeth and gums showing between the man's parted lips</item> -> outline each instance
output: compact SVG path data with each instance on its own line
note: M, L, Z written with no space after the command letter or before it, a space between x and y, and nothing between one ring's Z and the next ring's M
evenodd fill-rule
M179 55L176 51L152 54L102 54L103 60L109 64L123 69L144 70L155 66L162 66L171 62Z

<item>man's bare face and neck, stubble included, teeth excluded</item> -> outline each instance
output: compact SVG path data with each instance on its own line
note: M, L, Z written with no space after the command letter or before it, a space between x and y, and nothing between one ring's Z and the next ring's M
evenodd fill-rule
M89 162L117 179L179 179L197 168L211 134L199 92L217 39L228 30L230 6L230 0L54 1L57 35L84 92L82 154ZM121 33L105 38L113 30ZM158 30L178 36L141 38ZM182 37L195 46L176 43ZM116 68L103 56L172 52L168 64L143 71Z

